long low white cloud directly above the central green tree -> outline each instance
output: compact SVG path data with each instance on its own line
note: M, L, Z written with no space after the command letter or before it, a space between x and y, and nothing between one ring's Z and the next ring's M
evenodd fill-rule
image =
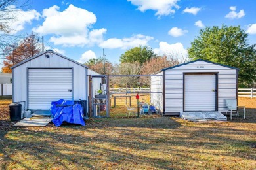
M151 41L154 39L153 37L142 35L142 34L137 34L133 35L132 37L129 38L123 38L123 39L117 39L117 38L112 38L112 39L107 39L106 41L103 41L102 43L99 44L101 48L122 48L122 49L127 49L127 48L133 48L135 46L147 46L148 41Z

